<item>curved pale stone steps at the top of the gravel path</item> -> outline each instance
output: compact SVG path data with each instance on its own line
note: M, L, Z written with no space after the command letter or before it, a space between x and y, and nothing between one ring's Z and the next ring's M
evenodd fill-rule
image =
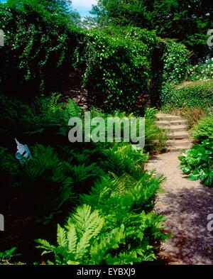
M166 150L180 152L192 146L190 131L187 131L186 121L180 116L170 114L156 114L157 124L160 128L168 130Z

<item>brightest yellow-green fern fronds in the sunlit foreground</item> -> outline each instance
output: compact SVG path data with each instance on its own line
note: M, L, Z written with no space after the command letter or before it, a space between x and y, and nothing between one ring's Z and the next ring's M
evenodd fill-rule
M60 263L80 263L85 255L89 253L88 248L100 233L104 226L104 218L99 216L99 212L84 204L77 207L67 221L65 229L58 225L58 246L51 246L47 241L38 239L36 242L41 244L37 248L44 248L45 253L56 253L57 261L64 257Z

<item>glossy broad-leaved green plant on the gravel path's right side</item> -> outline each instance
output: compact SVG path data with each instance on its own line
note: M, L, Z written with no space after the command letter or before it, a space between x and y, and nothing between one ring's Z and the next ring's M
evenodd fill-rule
M206 186L213 186L213 141L207 139L192 146L180 156L180 168L190 180L201 180Z

